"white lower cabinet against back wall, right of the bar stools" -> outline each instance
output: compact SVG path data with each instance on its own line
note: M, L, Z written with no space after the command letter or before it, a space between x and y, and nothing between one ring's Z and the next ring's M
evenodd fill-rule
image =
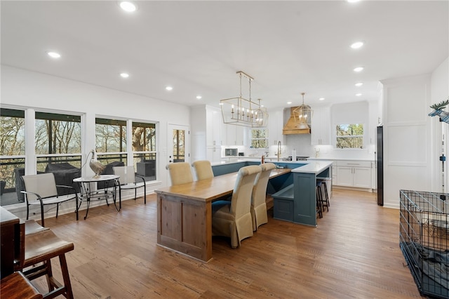
M336 161L335 164L336 182L333 185L372 188L370 161Z

